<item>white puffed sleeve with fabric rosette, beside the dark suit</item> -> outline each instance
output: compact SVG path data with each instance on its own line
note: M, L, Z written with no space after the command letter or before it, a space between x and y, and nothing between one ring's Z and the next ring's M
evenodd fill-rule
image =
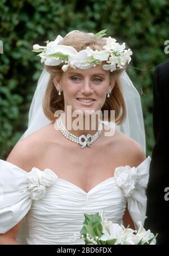
M141 221L144 225L146 219L146 188L150 161L151 158L148 157L137 167L121 166L114 171L116 184L122 189L136 229L139 228L138 222Z

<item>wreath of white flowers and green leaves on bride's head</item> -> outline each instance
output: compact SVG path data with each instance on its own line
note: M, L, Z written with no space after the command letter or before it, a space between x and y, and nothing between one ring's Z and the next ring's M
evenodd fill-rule
M68 34L74 31L69 32ZM79 32L79 31L77 31ZM105 36L106 29L99 33L93 34L96 38ZM67 34L67 36L68 36ZM89 46L86 49L77 51L72 46L58 45L63 37L60 34L56 37L55 41L46 41L46 46L33 45L33 50L41 57L41 62L45 62L47 66L58 66L64 63L62 70L65 72L68 67L81 68L86 70L87 68L96 67L101 65L102 61L106 61L108 64L104 64L102 67L104 70L110 70L113 72L117 68L122 68L126 63L130 63L132 51L126 49L125 43L120 45L115 38L104 37L105 45L104 50L92 50ZM117 66L116 66L117 65Z

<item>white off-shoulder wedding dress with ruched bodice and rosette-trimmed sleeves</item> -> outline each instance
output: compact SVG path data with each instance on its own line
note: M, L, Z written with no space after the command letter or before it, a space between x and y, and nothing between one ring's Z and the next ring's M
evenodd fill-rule
M105 219L122 223L126 203L131 218L144 223L149 164L115 168L114 176L88 193L69 181L59 179L50 169L32 168L26 172L15 164L0 160L0 233L5 233L21 219L19 244L84 244L80 238L84 213L104 210Z

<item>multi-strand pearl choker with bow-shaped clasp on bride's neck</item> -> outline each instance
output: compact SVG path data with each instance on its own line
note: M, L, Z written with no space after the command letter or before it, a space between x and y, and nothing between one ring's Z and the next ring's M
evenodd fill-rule
M84 147L86 147L86 146L91 147L91 144L97 138L99 138L99 135L100 135L101 131L103 130L103 122L101 122L101 120L99 119L99 129L97 130L97 132L95 133L94 136L92 136L91 134L87 134L87 136L82 134L81 136L77 137L77 136L73 135L72 133L68 132L68 130L63 125L63 122L61 121L61 116L60 116L60 118L58 118L56 120L56 123L57 123L57 127L59 128L61 133L63 133L63 135L66 138L68 138L68 140L73 141L77 144L80 144L82 149L84 149ZM84 140L82 141L82 139L84 139Z

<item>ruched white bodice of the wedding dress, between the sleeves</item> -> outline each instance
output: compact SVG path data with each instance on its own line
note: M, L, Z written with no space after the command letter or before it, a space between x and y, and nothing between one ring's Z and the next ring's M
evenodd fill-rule
M58 179L43 199L32 202L26 216L28 244L69 244L69 237L73 238L74 233L82 228L84 212L105 209L106 218L121 223L125 207L122 190L112 177L88 193ZM82 241L75 243L82 244Z

